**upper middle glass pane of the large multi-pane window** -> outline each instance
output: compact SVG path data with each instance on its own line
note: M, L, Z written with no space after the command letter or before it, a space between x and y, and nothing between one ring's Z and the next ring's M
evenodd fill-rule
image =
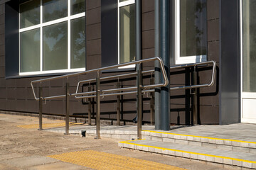
M68 0L43 0L43 22L68 16Z

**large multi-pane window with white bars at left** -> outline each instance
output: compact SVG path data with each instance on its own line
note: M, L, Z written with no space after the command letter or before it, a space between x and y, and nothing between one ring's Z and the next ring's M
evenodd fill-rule
M19 6L19 74L85 70L85 0Z

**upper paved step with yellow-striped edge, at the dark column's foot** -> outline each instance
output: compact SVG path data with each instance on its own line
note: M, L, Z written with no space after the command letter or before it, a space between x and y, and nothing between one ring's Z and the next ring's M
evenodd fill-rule
M233 139L223 139L218 137L203 137L196 135L184 135L171 132L161 132L156 130L144 130L143 138L159 142L173 142L182 145L192 145L199 147L211 147L215 149L225 149L230 151L247 152L256 154L256 142L248 138L242 140L240 137ZM225 136L223 136L225 137Z

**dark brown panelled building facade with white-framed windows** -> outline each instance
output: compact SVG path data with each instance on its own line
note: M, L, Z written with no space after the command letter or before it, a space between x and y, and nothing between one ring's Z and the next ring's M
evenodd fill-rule
M161 0L160 0L161 1ZM254 89L255 0L169 1L171 66L213 60L215 84L198 89L201 124L256 123ZM136 0L0 0L0 110L38 113L31 81L137 60ZM155 1L142 0L142 59L155 57ZM160 9L161 11L161 9ZM144 64L143 70L154 68ZM135 66L102 72L134 72ZM193 68L172 69L170 86L191 84ZM210 68L198 68L198 84L210 81ZM68 79L70 90L88 74ZM145 77L144 83L153 78ZM43 94L63 94L66 79L43 83ZM136 79L120 79L121 86ZM88 84L85 84L86 86ZM92 84L93 85L93 84ZM84 90L87 90L85 86ZM102 84L102 89L117 81ZM93 87L92 87L93 88ZM38 91L37 91L38 93ZM170 92L170 123L193 124L193 91ZM143 120L150 121L150 96L144 95ZM70 99L70 115L87 116L88 104ZM102 99L101 118L117 118L117 97ZM43 105L43 113L63 115L65 100ZM92 106L95 116L95 103ZM136 96L121 98L122 120L136 116Z

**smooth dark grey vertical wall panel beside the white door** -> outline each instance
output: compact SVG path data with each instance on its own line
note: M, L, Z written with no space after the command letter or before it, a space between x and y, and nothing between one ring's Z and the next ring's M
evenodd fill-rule
M239 0L220 0L220 124L240 122Z

